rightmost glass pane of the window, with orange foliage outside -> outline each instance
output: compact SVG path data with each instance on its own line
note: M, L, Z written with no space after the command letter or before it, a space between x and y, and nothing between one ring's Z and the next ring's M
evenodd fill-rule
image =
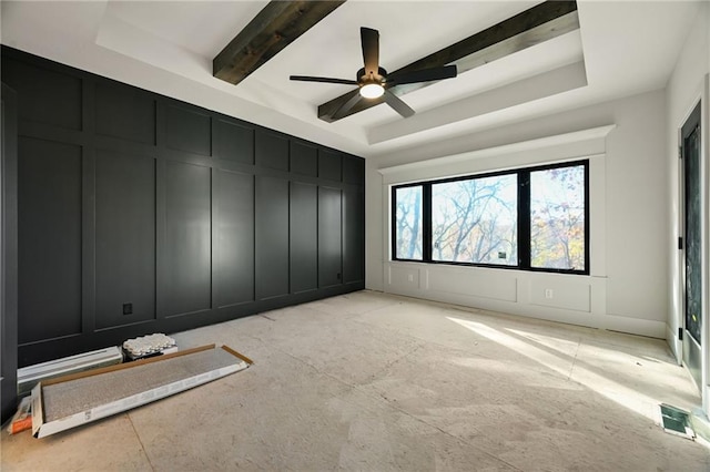
M585 270L585 166L530 172L530 267Z

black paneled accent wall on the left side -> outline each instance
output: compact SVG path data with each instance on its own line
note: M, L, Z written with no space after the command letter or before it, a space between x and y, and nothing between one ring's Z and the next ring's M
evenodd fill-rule
M361 157L2 48L20 367L364 288Z

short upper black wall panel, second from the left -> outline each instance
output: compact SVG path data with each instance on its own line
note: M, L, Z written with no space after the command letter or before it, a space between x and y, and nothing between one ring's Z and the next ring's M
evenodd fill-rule
M126 85L99 82L95 86L97 133L143 144L155 144L155 99Z

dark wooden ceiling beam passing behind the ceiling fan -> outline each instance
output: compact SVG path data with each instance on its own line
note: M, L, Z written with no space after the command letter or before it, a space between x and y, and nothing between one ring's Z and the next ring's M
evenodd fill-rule
M448 64L456 64L458 73L460 74L577 29L579 29L577 2L548 0L429 54L426 58L405 65L392 72L390 75ZM389 91L399 96L430 85L433 82L420 82L395 85L390 88ZM321 104L318 106L318 117L328 123L337 121L333 119L332 115L349 96L351 93L346 93ZM348 113L338 120L383 102L383 99L361 100Z

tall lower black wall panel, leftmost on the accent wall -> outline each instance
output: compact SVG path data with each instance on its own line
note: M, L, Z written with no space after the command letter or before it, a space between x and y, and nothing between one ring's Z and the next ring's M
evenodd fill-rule
M81 147L20 137L18 341L81 332Z

